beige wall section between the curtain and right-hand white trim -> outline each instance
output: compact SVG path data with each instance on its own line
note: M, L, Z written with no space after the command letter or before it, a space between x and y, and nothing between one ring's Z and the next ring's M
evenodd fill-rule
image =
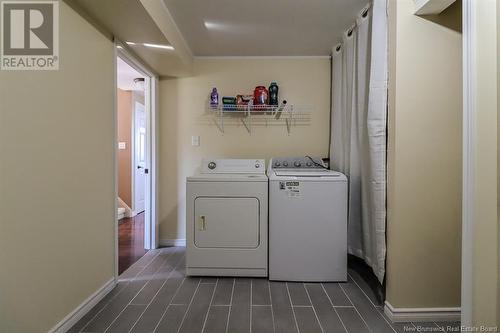
M460 2L437 17L390 1L387 301L460 306Z

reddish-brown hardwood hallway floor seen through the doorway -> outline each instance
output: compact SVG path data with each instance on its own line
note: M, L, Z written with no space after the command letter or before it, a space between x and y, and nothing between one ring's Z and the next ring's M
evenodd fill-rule
M144 212L118 223L118 272L122 274L144 254Z

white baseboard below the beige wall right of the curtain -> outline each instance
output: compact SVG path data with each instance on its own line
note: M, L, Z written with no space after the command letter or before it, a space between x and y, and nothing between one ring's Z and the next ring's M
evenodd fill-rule
M460 308L395 308L385 301L384 313L392 322L460 321Z

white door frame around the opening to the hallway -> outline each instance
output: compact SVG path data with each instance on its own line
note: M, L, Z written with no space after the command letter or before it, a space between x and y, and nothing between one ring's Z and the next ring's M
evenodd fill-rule
M146 77L145 80L145 92L144 92L144 106L146 109L146 131L147 131L147 157L148 161L146 166L148 168L148 174L146 176L146 195L145 195L145 216L144 216L144 234L145 242L144 247L146 249L156 249L158 248L158 75L148 66L143 64L130 50L127 46L118 41L114 41L115 44L115 107L114 107L114 129L115 129L115 197L118 198L118 163L117 163L117 58L121 58L139 73ZM149 80L148 80L149 78ZM117 203L115 207L115 216L117 210ZM118 219L115 218L115 278L118 277Z

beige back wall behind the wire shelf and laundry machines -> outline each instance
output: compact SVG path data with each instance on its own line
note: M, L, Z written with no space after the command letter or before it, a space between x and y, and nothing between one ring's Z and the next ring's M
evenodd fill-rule
M310 106L312 120L292 128L260 126L249 135L243 125L221 134L202 115L212 87L221 96L253 91L277 81L280 98ZM160 81L160 239L185 238L185 179L203 157L266 158L328 154L330 60L325 58L196 59L194 76ZM201 146L191 146L200 135Z

